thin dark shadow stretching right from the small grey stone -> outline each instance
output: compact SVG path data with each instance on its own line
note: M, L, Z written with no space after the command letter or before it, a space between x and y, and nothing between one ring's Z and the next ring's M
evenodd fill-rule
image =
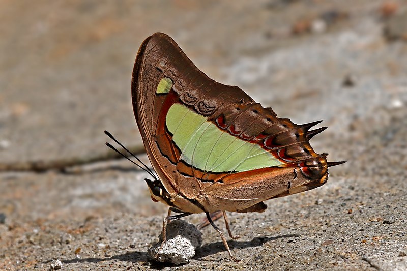
M258 247L263 246L267 242L281 239L281 238L292 238L292 237L299 237L299 234L284 234L279 236L273 237L254 237L250 241L237 241L237 240L228 240L227 244L229 245L230 249L245 249L249 247ZM225 247L221 241L206 244L201 246L199 249L196 250L195 259L201 259L209 255L216 254L218 252L225 252Z

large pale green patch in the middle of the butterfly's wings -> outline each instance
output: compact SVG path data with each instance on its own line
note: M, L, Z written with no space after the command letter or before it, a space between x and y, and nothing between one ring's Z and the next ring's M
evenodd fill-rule
M165 123L181 149L180 159L200 170L242 172L281 164L259 145L220 130L184 105L173 104Z

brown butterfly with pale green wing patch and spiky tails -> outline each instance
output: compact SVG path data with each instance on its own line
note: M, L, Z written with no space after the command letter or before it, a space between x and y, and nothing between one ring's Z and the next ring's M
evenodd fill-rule
M264 201L324 185L327 154L309 140L327 127L310 130L278 118L242 89L218 83L201 72L168 35L155 33L141 44L134 64L131 95L134 115L157 176L146 178L153 201L169 206L169 220L226 211L264 212ZM141 162L141 161L139 161ZM171 216L171 212L178 215Z

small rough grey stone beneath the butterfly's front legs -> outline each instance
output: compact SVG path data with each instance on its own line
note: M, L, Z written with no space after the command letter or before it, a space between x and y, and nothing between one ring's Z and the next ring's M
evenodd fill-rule
M195 256L196 248L202 243L202 233L195 225L177 219L167 224L167 241L161 246L161 234L159 242L149 248L150 256L159 262L170 262L173 264L187 263Z

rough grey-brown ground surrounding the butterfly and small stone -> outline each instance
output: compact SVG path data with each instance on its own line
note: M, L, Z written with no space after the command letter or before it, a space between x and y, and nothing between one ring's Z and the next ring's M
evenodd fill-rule
M240 263L206 227L177 268L407 270L405 4L1 1L0 269L176 268L147 252L164 206L144 172L106 159L103 134L140 148L131 71L142 40L160 31L280 117L324 119L312 145L348 161L322 188L229 214Z

